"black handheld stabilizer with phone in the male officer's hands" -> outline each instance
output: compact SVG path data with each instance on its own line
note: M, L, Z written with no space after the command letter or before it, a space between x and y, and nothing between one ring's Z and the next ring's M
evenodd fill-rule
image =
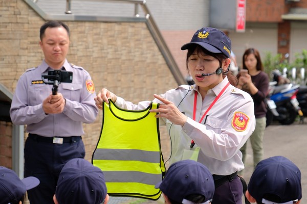
M45 84L53 84L52 95L56 95L58 86L61 82L62 83L73 82L73 72L62 71L62 70L49 70L48 74L41 74L41 79ZM45 79L47 79L48 81L45 81Z

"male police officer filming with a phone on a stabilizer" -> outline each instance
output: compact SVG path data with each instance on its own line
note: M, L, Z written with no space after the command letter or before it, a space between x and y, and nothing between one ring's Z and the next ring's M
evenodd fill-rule
M27 125L25 177L40 180L28 191L31 204L52 204L58 175L73 158L84 158L82 122L96 119L95 90L90 74L68 63L70 31L60 21L49 21L40 28L40 47L45 60L28 69L18 80L10 115L16 125ZM72 83L60 83L58 93L41 80L49 70L73 72Z

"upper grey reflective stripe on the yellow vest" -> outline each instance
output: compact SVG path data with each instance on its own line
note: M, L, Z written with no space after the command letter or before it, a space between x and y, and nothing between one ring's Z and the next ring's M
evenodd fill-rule
M145 151L139 149L96 149L94 160L120 160L160 163L159 151Z

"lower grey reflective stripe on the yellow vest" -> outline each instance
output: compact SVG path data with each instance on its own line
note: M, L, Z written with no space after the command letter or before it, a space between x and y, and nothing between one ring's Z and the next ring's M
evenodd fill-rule
M161 174L144 173L140 171L103 171L105 182L110 183L141 183L156 185L161 182Z

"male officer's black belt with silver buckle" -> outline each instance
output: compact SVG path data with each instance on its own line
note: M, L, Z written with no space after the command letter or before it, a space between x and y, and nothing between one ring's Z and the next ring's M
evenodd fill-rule
M62 144L62 143L71 143L80 141L81 136L71 136L71 137L43 137L40 135L29 133L29 138L37 141L37 142L46 142L46 143L54 143L54 144Z

